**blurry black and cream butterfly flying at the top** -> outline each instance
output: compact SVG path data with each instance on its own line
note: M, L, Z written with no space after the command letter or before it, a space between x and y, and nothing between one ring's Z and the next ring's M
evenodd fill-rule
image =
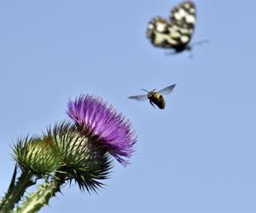
M148 23L147 37L155 47L174 49L174 53L190 50L189 42L195 31L195 3L179 3L170 13L170 21L155 17Z

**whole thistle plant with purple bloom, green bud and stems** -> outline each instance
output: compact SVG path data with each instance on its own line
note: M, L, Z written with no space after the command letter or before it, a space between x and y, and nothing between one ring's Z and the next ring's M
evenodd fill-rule
M37 212L61 192L67 181L75 181L82 191L96 192L113 168L111 156L123 165L129 164L136 137L131 123L111 105L99 97L81 95L68 102L67 115L72 122L55 124L41 137L26 137L15 145L13 156L21 176L26 175L26 187L39 178L45 181L14 212ZM9 196L0 203L0 212L1 208L6 212L13 210L25 193L26 187L20 187L23 191L19 197L9 199L15 194L14 180L15 177Z

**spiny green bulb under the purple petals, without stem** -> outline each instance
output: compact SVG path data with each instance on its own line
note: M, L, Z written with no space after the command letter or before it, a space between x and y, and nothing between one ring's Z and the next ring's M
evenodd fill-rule
M55 124L45 137L51 138L61 156L61 166L55 178L75 181L81 190L88 192L96 192L102 186L99 180L108 178L112 161L92 138L81 135L75 125L67 122Z

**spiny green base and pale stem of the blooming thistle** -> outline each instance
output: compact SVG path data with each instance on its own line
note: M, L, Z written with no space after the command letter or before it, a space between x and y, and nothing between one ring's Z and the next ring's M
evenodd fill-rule
M49 199L56 193L61 192L61 186L66 181L75 181L80 190L89 193L102 187L100 180L108 178L112 161L108 153L95 146L92 140L81 135L75 125L67 122L55 124L53 129L49 128L42 141L47 141L54 147L58 168L54 176L50 176L38 187L37 192L26 196L15 212L37 212L45 204L49 204Z

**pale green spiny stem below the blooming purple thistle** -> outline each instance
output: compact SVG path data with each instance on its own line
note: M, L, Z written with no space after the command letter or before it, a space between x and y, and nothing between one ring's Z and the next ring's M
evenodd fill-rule
M14 213L35 213L38 212L45 204L49 203L49 199L60 192L60 187L65 181L53 179L50 182L44 182L38 186L35 193L31 193L26 197L26 200Z

